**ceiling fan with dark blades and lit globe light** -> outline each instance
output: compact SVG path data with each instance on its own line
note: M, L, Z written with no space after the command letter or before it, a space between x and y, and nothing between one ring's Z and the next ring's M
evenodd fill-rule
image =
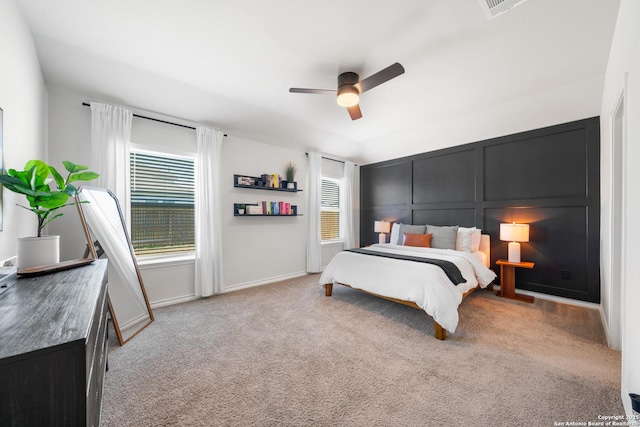
M349 111L351 120L358 120L362 117L360 105L358 104L360 95L382 83L389 81L400 74L404 73L404 67L399 63L388 66L377 73L360 80L358 73L347 71L338 76L338 90L329 89L302 89L292 87L289 89L291 93L312 93L319 95L335 95L337 94L337 102L341 107L345 107Z

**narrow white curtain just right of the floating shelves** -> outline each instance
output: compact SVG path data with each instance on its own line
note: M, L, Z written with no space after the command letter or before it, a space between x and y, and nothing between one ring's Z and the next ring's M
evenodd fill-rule
M322 156L318 153L309 153L309 237L307 239L307 272L309 273L318 273L322 269L320 236L321 172Z

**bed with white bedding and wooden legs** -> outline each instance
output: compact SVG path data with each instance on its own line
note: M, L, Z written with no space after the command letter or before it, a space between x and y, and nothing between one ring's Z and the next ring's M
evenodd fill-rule
M444 340L447 331L454 333L458 326L458 306L463 298L478 287L487 287L496 277L488 268L489 236L480 235L479 230L476 234L476 247L460 250L398 244L392 232L395 243L338 253L319 282L326 296L331 296L333 285L338 284L424 310L434 320L435 337ZM461 282L454 284L456 280L441 264L457 267Z

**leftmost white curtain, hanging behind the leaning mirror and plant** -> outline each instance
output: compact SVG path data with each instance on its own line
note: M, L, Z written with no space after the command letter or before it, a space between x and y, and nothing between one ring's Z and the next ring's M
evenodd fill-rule
M129 146L133 113L114 105L91 103L91 170L100 174L92 186L108 188L118 198L130 228Z

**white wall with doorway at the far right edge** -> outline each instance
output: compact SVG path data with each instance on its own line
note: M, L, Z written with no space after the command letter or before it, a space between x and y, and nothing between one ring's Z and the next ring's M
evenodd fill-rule
M621 397L627 414L631 413L628 393L640 393L640 276L638 256L640 250L636 242L640 239L640 223L637 221L640 212L640 193L636 184L640 182L640 2L622 0L618 14L618 22L611 46L611 54L607 67L604 96L601 111L601 190L602 190L602 292L603 301L609 301L612 290L621 287L622 312L609 312L606 319L610 324L613 316L621 316L622 326L622 384ZM626 77L625 77L626 76ZM612 180L612 138L611 115L624 90L625 98L625 143L623 156L623 210L622 234L622 280L611 283L611 180Z

